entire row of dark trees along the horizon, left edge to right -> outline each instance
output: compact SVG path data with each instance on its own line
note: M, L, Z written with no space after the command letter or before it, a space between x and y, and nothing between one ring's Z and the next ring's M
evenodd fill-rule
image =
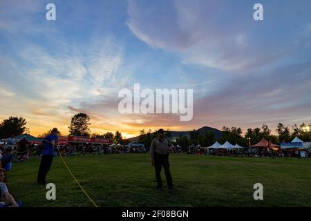
M91 133L91 129L89 126L91 117L89 117L86 113L77 113L75 114L68 126L70 136L83 136L83 137L100 137L100 138L108 138L112 139L115 144L128 144L129 140L125 137L122 137L122 134L119 131L115 133L106 132L103 134ZM4 119L3 122L0 123L0 138L7 138L10 135L21 135L21 134L29 134L29 128L26 127L26 119L23 117L8 117L8 119ZM311 122L310 124L301 124L297 126L289 127L285 126L282 123L279 123L275 129L276 135L272 134L272 130L265 124L261 126L261 128L247 128L247 131L243 135L243 131L241 128L232 127L229 128L227 126L223 126L222 136L216 139L214 132L207 131L204 134L200 134L199 131L193 130L189 132L189 135L180 135L173 140L173 144L179 145L181 147L187 148L191 145L200 145L200 146L211 146L216 142L216 140L223 144L225 141L229 141L231 144L238 144L240 146L248 146L249 142L251 144L256 144L261 141L263 137L267 140L271 140L274 144L279 144L280 142L290 142L294 139L294 137L299 137L301 140L305 142L311 141ZM39 137L45 137L48 135L50 131L46 131L39 135ZM138 137L138 142L144 144L145 146L150 146L151 141L154 137L156 137L156 131L152 131L151 129L145 130L142 129L139 131L140 135ZM169 129L166 131L167 137L171 138L171 132ZM59 133L59 136L62 136Z

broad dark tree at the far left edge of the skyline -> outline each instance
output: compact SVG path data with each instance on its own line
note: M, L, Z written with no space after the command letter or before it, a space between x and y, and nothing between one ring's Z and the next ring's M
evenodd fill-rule
M8 119L4 119L0 124L0 138L8 138L12 134L17 136L23 133L29 133L26 124L26 119L23 119L23 117L9 117Z

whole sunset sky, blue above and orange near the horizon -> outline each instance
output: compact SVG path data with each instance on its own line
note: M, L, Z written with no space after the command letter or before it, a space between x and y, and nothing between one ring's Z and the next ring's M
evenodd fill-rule
M46 20L46 5L56 20ZM255 3L263 21L253 19ZM311 122L311 1L0 1L0 121L32 135ZM194 115L120 114L122 88L194 90Z

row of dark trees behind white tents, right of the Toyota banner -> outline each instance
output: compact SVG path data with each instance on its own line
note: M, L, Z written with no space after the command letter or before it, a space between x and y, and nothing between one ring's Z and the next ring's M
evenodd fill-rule
M292 128L279 123L276 127L276 135L272 134L272 130L263 124L261 128L247 128L245 135L241 128L223 126L222 136L216 139L215 133L212 131L207 131L200 134L199 131L193 130L189 134L180 135L175 140L173 140L174 145L179 145L182 148L187 148L191 145L200 146L211 146L216 141L220 144L224 144L226 141L231 144L238 144L240 146L249 146L260 142L263 137L266 140L270 140L274 144L280 144L281 142L291 142L294 137L299 137L299 139L304 142L311 142L311 123L301 124L297 126L294 124ZM167 137L171 137L171 133L167 130ZM156 137L155 131L151 129L145 131L144 129L140 131L139 142L143 143L145 146L150 146L152 139Z

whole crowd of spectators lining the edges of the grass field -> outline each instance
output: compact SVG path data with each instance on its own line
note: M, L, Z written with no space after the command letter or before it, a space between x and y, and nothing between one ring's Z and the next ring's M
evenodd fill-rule
M46 138L45 138L46 139ZM44 142L42 142L43 144ZM8 191L6 185L6 175L11 170L12 162L23 162L30 156L43 157L44 145L35 142L28 142L25 137L18 142L11 135L6 143L0 144L0 207L21 206L21 202L16 202ZM120 144L86 144L71 143L58 144L53 149L54 156L74 156L74 155L106 155L106 154L126 154L126 153L147 153L149 148L142 146L120 145ZM311 151L298 149L281 148L203 148L191 145L187 148L169 145L171 153L183 153L189 155L220 155L220 156L242 156L242 157L301 157L304 152L305 157L311 157ZM53 156L52 156L53 157Z

